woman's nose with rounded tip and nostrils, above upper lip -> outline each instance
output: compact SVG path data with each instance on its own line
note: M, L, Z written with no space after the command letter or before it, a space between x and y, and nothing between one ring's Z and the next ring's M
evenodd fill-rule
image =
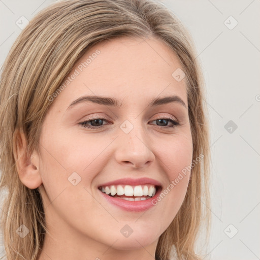
M141 126L135 126L128 134L122 131L118 138L115 158L123 166L145 168L155 159L150 144L149 137Z

